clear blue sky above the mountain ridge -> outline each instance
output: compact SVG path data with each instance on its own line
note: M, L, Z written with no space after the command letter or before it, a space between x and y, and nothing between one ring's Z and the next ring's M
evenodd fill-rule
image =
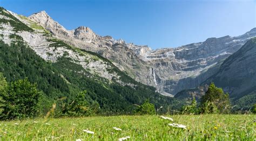
M0 0L29 16L45 10L66 29L89 26L101 36L151 48L178 47L256 27L254 0Z

